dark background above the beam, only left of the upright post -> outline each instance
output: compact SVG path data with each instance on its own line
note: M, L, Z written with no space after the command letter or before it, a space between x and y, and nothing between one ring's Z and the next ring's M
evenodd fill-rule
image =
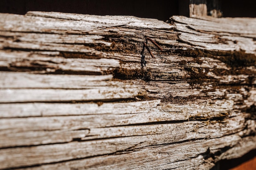
M178 5L178 0L0 0L0 12L25 14L27 11L57 11L168 20L178 14Z

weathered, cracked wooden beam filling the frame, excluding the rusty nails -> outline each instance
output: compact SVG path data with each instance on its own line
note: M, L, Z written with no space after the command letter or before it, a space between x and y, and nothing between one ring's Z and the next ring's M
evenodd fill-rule
M256 148L256 19L0 14L0 169L211 169ZM141 69L142 43L148 43Z

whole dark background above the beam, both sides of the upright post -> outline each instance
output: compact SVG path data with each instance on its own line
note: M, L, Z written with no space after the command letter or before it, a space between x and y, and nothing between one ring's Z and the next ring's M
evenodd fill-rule
M220 0L224 17L256 17L255 0ZM0 13L56 11L94 15L133 15L168 20L188 15L189 0L0 0Z

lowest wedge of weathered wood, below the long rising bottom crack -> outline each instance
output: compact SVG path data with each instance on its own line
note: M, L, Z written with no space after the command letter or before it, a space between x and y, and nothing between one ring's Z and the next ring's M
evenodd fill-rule
M89 169L117 169L122 163L121 169L164 169L172 166L175 169L188 168L193 169L194 166L200 169L208 169L209 166L202 161L202 155L196 155L195 152L207 153L209 146L216 146L216 149L222 148L225 145L234 146L234 141L239 141L240 137L231 135L224 137L225 144L221 143L220 139L198 140L184 142L182 144L171 144L163 146L145 147L143 150L134 150L100 157L92 157L89 159L79 159L70 162L63 162L53 165L45 165L42 167L35 167L29 169L62 169L70 168L89 168ZM255 140L255 138L254 138ZM177 156L173 156L177 155ZM144 159L147 157L147 159ZM192 157L192 159L191 159ZM207 158L205 158L207 160ZM127 161L123 161L127 160ZM211 160L211 158L209 158ZM138 164L134 164L137 161ZM95 166L96 165L96 166ZM214 164L211 164L212 167Z

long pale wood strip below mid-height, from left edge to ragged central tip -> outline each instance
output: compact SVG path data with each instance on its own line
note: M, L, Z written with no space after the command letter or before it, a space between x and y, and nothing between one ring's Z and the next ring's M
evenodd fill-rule
M40 117L67 115L101 115L146 113L150 107L155 108L159 100L128 103L25 103L0 104L1 117ZM231 105L232 106L232 105ZM227 107L231 107L227 106Z

